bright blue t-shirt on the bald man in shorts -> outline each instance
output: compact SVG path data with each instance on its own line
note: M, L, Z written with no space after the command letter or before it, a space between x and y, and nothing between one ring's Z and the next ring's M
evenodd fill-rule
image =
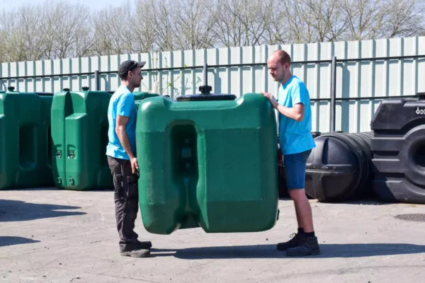
M297 103L304 104L304 118L297 122L279 112L279 144L283 155L298 154L316 147L312 137L312 108L310 95L305 84L292 76L279 88L278 103L292 108Z

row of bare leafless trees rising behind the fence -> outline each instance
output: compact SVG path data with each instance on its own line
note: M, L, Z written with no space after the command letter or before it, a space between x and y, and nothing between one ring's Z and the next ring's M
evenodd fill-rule
M1 62L425 35L425 0L55 0L0 16Z

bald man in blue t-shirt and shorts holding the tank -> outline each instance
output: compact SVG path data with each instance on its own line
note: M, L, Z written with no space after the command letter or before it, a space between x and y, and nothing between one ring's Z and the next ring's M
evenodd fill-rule
M278 100L271 93L261 92L279 112L279 145L285 165L286 185L295 204L298 231L278 250L290 256L319 255L320 248L314 234L312 207L305 195L305 167L316 144L312 137L310 95L305 84L290 72L290 56L277 50L267 60L274 81L281 83ZM293 238L292 238L293 237Z

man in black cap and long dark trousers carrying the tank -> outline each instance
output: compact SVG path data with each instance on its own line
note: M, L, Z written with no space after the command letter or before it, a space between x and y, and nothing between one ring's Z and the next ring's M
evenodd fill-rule
M135 98L132 94L140 87L142 71L146 62L128 60L118 69L121 86L113 93L108 107L108 138L106 147L109 168L113 175L115 217L120 235L120 253L133 258L150 255L152 243L137 240L135 219L139 210L137 187L139 166L136 154Z

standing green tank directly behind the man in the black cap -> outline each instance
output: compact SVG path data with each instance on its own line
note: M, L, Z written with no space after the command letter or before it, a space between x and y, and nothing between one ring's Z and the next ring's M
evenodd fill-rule
M64 89L52 103L52 168L57 187L67 190L112 189L106 158L108 103L113 91ZM135 92L135 100L153 93Z

